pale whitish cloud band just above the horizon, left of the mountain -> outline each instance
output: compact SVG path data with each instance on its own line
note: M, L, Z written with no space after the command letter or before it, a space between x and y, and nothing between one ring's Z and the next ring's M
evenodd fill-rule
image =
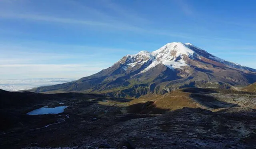
M6 64L0 65L0 77L5 78L44 78L60 76L80 78L95 74L109 67L106 63L95 64Z

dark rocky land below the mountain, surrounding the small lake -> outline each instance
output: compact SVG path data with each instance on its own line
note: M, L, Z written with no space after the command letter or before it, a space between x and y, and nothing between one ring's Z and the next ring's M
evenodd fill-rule
M97 94L16 93L0 90L0 148L116 147L129 139L138 149L254 149L256 95L185 88L138 99ZM68 106L64 113L26 115L38 107ZM69 118L66 118L66 115ZM43 127L66 118L63 123Z

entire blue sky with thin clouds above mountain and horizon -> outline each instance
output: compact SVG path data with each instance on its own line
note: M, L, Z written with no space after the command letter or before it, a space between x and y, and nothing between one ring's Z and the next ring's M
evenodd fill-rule
M0 77L80 78L192 43L256 68L255 0L0 0Z

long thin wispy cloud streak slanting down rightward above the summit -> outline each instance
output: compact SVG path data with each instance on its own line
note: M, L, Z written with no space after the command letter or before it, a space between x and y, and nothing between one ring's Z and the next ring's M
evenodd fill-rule
M95 20L82 20L76 18L62 18L62 17L54 17L54 16L44 16L44 15L36 15L36 14L13 14L13 13L0 13L0 18L11 18L11 19L22 19L27 21L36 21L36 22L51 22L58 24L69 24L76 25L80 28L86 28L86 26L91 26L93 28L104 29L106 31L129 31L134 32L136 34L152 34L152 35L160 35L160 36L169 36L169 37L177 37L177 38L185 38L185 39L203 39L203 40L226 40L226 41L243 41L242 39L235 38L221 38L221 37L206 37L200 35L191 35L182 32L173 32L170 30L158 29L158 28L142 28L139 26L134 26L132 24L123 23L122 21L112 21L108 20L108 22L104 21L95 21ZM5 31L7 32L7 31Z

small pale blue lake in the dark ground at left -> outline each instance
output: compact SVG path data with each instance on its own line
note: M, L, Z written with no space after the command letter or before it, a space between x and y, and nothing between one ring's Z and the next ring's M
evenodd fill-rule
M28 112L28 115L41 115L41 114L58 114L62 113L67 106L59 107L41 107L33 111Z

